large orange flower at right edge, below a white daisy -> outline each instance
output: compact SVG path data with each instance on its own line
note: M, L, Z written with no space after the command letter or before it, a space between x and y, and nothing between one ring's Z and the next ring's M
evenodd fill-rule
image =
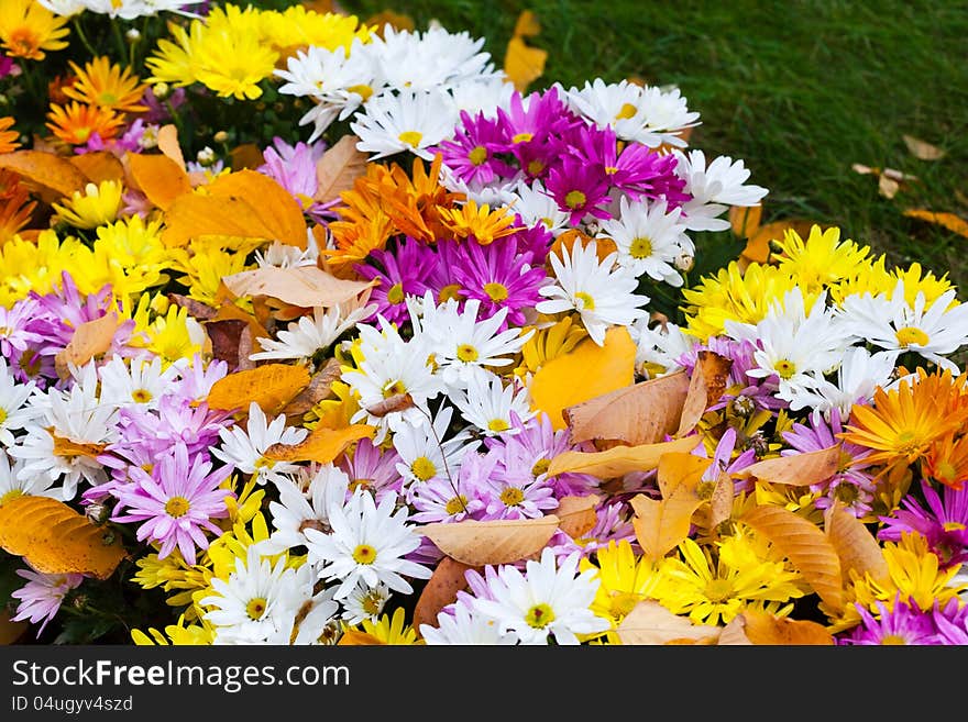
M840 438L875 449L867 460L889 469L913 464L968 419L966 378L919 368L913 381L905 379L891 391L879 388L872 406L855 404Z

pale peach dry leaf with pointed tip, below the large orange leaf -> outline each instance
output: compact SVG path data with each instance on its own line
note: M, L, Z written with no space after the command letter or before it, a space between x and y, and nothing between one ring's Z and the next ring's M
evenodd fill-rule
M302 308L345 303L378 282L343 280L316 266L264 266L226 276L222 281L239 298L267 296Z

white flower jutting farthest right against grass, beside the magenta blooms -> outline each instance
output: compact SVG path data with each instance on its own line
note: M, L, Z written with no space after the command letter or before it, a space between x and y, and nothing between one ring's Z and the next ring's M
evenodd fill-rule
M729 206L756 206L769 192L762 186L745 185L750 171L743 160L721 155L706 167L706 155L698 149L673 151L675 174L685 180L684 191L692 196L682 206L682 216L690 231L725 231L729 221L719 218Z

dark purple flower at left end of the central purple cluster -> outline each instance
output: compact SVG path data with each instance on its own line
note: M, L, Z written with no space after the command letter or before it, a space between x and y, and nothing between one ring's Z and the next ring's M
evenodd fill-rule
M358 274L380 281L370 296L370 302L376 303L374 315L381 314L392 323L407 321L406 298L424 296L426 279L436 263L431 248L407 236L397 244L396 252L378 248L370 253L365 264L356 264Z

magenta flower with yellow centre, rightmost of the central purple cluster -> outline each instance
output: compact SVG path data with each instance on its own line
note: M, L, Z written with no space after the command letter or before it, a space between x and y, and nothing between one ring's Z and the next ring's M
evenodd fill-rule
M525 312L541 300L538 289L547 278L543 266L532 268L517 249L518 243L513 235L486 246L464 243L458 249L457 265L452 269L464 296L481 301L480 321L490 319L501 309L508 310L499 331L505 331L508 325L525 325Z

